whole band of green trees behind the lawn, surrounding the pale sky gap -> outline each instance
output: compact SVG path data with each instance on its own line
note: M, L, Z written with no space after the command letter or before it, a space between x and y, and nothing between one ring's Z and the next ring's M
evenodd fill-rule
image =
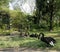
M53 30L60 27L60 0L36 0L32 15L23 13L19 7L9 10L10 0L0 0L0 28L28 31Z

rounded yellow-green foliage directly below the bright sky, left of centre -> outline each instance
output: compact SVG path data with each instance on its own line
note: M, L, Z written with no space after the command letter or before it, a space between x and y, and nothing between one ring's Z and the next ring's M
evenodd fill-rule
M13 28L24 29L26 27L26 15L21 11L10 11L10 24Z

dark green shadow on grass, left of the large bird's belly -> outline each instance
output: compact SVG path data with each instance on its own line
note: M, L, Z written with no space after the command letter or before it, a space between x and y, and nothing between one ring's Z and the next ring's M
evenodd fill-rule
M47 44L41 42L40 40L37 40L37 41L33 41L33 42L27 42L27 43L20 44L20 47L28 47L28 48L33 48L33 49L38 49L38 48L46 49Z

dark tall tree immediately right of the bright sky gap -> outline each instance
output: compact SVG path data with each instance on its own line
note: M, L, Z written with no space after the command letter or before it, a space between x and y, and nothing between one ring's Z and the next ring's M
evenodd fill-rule
M45 0L36 0L36 23L39 24L39 21L42 18L42 12L45 9Z

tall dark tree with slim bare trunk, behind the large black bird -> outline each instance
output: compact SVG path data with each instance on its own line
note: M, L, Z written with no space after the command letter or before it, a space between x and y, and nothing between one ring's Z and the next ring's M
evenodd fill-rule
M50 27L49 30L51 31L53 29L53 15L54 15L54 10L55 10L55 2L54 0L48 0L47 1L47 8L49 17L50 17Z

